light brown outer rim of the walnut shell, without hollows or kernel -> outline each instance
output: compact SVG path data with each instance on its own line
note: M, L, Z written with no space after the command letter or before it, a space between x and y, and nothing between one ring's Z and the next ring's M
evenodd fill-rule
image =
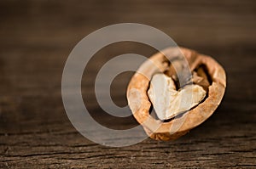
M212 84L208 88L207 98L194 109L186 112L186 118L183 120L181 127L175 132L170 132L172 125L181 119L175 118L172 121L160 123L160 120L154 119L154 117L149 114L151 102L148 99L147 91L150 82L149 79L151 79L155 71L152 70L150 64L148 65L146 62L152 61L154 65L157 65L158 70L164 72L167 69L167 65L164 64L166 61L164 54L168 53L175 55L177 52L181 52L185 56L185 59L188 60L190 70L195 70L198 65L206 65L208 70L207 73L212 79ZM214 110L218 108L218 105L224 96L226 76L224 68L210 56L198 54L189 48L166 48L151 56L147 61L139 68L144 76L141 73L136 72L134 76L131 77L126 95L132 114L136 120L143 125L145 132L147 132L150 138L165 141L179 138L189 132L190 129L197 127L203 121L206 121L207 118L213 114ZM148 78L145 75L148 76ZM133 102L133 100L137 100L137 95L132 93L132 89L134 88L140 92L139 108L137 108L137 103ZM137 109L135 109L135 107Z

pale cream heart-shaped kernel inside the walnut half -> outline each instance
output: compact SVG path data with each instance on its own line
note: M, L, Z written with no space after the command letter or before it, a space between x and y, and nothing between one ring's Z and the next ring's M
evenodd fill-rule
M199 80L200 81L200 80ZM176 90L172 77L156 74L148 89L148 98L160 120L168 120L199 104L207 92L197 84Z

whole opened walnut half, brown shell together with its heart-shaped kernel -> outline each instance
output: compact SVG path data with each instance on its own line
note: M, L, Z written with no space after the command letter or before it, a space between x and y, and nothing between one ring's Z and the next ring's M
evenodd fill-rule
M184 75L183 78L180 54L188 61L192 76ZM155 79L157 74L162 77ZM160 85L156 94L150 88L150 80L152 84ZM127 99L133 115L150 138L172 140L206 121L220 104L225 87L224 69L214 59L187 48L167 48L154 54L132 76L127 88ZM192 93L195 99L188 99L189 104L185 106L177 105L187 99L186 94L183 99L177 99L177 95L182 92L189 93L188 97ZM160 120L168 121L160 121L150 115L152 104Z

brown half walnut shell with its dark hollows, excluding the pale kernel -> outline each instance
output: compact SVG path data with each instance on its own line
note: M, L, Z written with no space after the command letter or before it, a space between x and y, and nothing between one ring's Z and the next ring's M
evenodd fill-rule
M177 80L179 72L176 71L179 71L178 67L182 66L176 66L175 71L172 66L175 62L172 63L172 60L181 54L187 60L189 71L193 75L191 82L207 90L207 96L200 104L184 112L183 115L177 115L168 121L160 121L150 114L153 106L148 98L150 79L156 73L165 73ZM142 124L148 136L156 140L167 141L183 136L206 121L220 104L225 87L225 71L214 59L188 48L167 48L154 54L140 66L132 76L126 94L132 114Z

